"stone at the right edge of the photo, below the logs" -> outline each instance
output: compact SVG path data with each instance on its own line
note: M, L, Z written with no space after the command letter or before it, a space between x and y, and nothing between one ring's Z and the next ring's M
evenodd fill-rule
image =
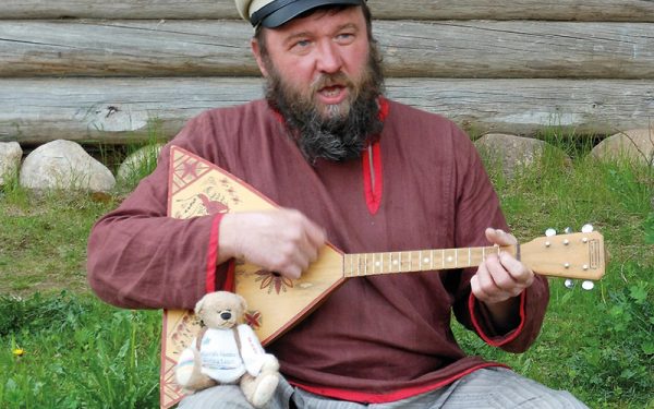
M600 160L630 159L654 166L654 128L616 133L600 142L591 155Z

